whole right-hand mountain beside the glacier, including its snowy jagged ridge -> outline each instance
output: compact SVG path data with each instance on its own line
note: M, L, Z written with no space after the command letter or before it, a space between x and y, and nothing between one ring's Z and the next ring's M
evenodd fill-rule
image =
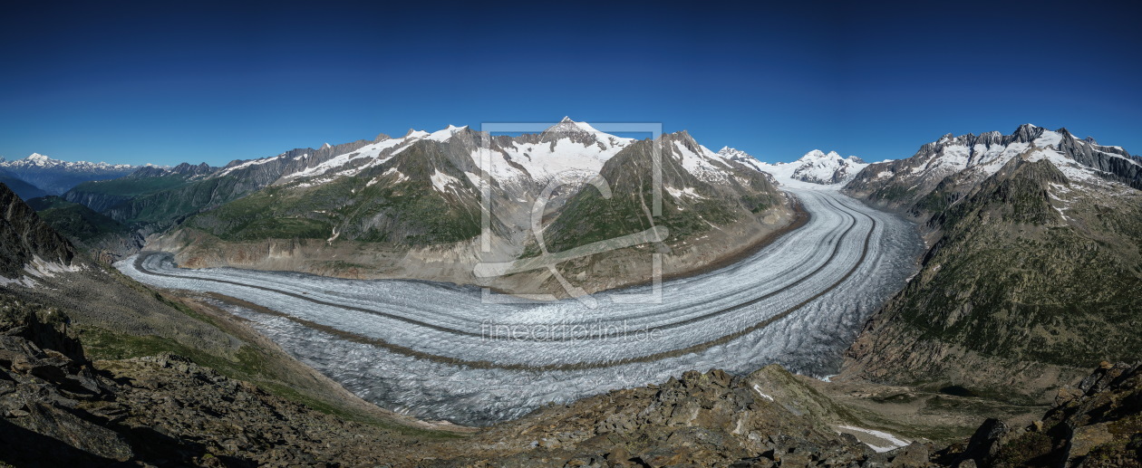
M1142 192L1128 170L1080 163L1069 140L1028 126L944 137L850 184L925 221L931 249L850 348L846 374L1045 401L1081 369L1142 346L1132 312L1142 308L1132 292L1142 288Z

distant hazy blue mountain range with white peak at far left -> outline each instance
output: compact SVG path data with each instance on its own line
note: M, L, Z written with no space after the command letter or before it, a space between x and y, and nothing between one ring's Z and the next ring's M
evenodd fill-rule
M142 168L130 164L107 164L105 162L69 162L54 160L39 153L22 160L7 161L0 158L0 181L11 187L21 197L59 195L75 185L88 180L114 179ZM23 184L9 181L21 180Z

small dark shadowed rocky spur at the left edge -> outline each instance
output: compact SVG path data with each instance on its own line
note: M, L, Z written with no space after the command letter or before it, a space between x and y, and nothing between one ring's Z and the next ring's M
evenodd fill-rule
M0 184L0 276L18 277L24 265L35 257L71 265L75 249L8 186Z

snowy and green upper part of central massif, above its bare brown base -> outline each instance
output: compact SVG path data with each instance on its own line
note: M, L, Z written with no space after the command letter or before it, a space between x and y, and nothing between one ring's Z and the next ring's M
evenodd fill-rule
M272 211L286 210L279 215L287 218L301 216L308 219L303 224L315 223L314 226L328 229L328 237L333 237L336 231L339 240L456 242L471 239L477 233L476 227L471 225L474 223L471 216L478 213L478 188L484 177L490 183L493 199L500 204L530 202L549 183L568 176L600 174L610 160L636 143L659 145L661 155L673 162L667 169L685 172L687 180L695 184L725 185L732 184L735 177L745 177L737 172L741 169L740 166L735 167L722 155L699 145L685 132L664 136L657 143L637 142L601 132L585 122L564 118L540 134L516 137L492 136L467 127L449 126L431 134L410 130L401 138L378 138L351 152L325 158L319 164L283 174L271 184L268 192L235 202L235 207L255 203L257 200L260 200L258 203L271 204L268 199L273 193L276 199L272 201L275 207ZM281 158L283 156L232 164L215 177L231 176L233 171L255 166L267 166ZM666 187L668 195L671 192L687 192L690 197L699 196L690 185L675 185L678 186ZM297 199L298 207L290 208L284 200L293 200L295 194L306 195ZM408 196L415 196L415 201L407 199ZM367 202L368 200L377 201ZM439 208L420 213L391 211L407 210L424 203ZM404 231L410 224L431 219L434 215L449 212L456 207L465 207L461 211L467 213L465 223L468 227L429 229L441 234L451 233L443 237L428 235L427 231ZM243 223L208 220L216 217L230 219L232 215L240 216L238 212L246 211L224 207L198 217L194 225L224 236L250 239L250 234L232 231L241 229L246 226ZM505 218L510 216L513 215L504 215ZM518 229L526 224L520 221L497 218L497 229L506 229L507 225L517 225ZM397 225L402 227L397 228ZM396 233L388 232L388 228L381 228L385 234L378 234L375 231L380 226L397 228L400 235L393 237L392 234Z

